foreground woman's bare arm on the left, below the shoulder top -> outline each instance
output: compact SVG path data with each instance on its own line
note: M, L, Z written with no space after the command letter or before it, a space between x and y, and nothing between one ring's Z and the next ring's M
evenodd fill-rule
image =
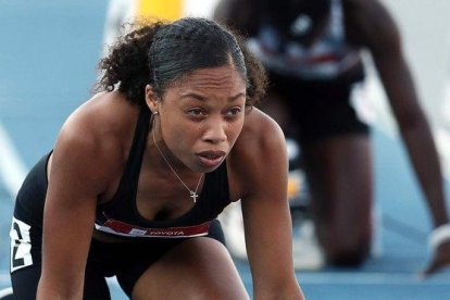
M104 166L112 163L112 154L90 122L74 118L63 126L52 154L43 211L41 284L79 292L98 196L110 176Z

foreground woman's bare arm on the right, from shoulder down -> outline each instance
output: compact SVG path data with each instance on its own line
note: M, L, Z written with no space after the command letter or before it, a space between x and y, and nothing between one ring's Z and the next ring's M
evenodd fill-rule
M253 288L255 295L296 295L285 138L274 121L255 109L252 113L258 128L245 130L234 160L240 166L237 179L245 183L241 207Z

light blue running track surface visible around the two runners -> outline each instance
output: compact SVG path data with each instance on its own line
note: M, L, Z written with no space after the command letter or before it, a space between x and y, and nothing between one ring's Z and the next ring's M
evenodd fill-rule
M33 3L32 3L33 2ZM30 167L52 148L67 115L88 99L108 1L0 0L0 123ZM429 218L403 149L374 132L382 254L359 270L298 273L309 299L446 299L450 272L421 280ZM450 188L448 187L448 190ZM0 183L0 288L10 285L13 199ZM237 261L251 292L246 262ZM113 299L126 299L111 282Z

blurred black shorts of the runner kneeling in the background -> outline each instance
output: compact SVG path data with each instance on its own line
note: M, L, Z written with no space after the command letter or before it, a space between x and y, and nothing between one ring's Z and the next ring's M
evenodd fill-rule
M267 93L275 92L287 109L290 121L288 136L309 142L347 134L368 134L367 124L350 103L354 83L361 75L346 80L303 80L271 72Z

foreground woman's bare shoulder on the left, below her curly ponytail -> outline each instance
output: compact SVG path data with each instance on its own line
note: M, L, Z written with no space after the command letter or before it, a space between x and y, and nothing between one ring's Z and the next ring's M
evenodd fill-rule
M138 113L117 92L96 95L68 116L57 139L51 173L73 170L107 185L126 159Z

